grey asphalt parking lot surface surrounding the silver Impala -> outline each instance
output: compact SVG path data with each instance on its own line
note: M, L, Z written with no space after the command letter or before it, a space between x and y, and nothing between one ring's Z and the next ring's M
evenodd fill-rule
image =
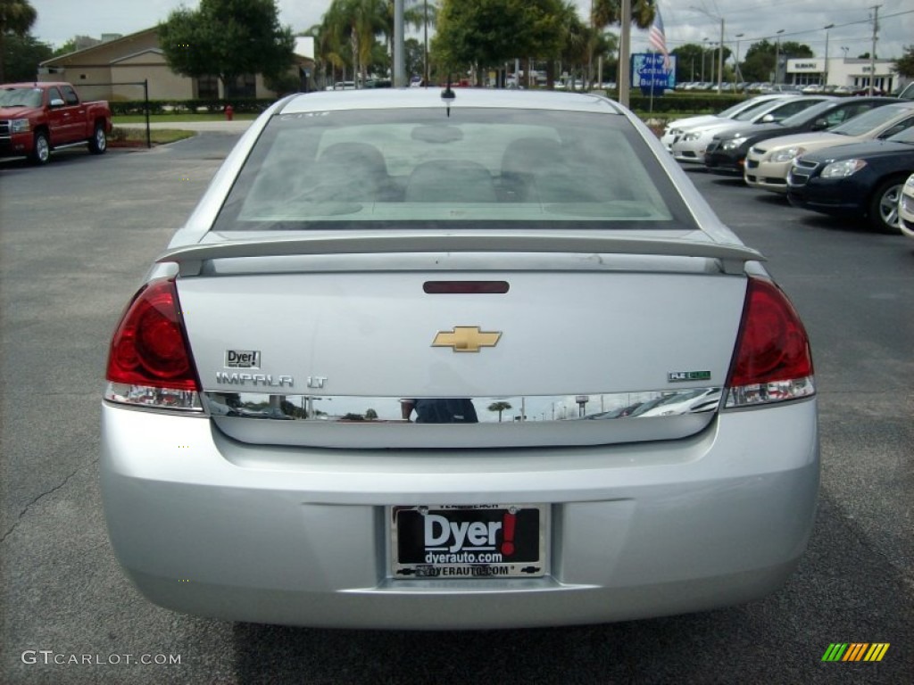
M823 490L781 592L699 615L466 633L232 624L149 605L101 513L107 344L237 136L0 163L0 683L910 682L914 241L701 171L689 175L771 258L813 340ZM890 648L878 663L824 662L836 642Z

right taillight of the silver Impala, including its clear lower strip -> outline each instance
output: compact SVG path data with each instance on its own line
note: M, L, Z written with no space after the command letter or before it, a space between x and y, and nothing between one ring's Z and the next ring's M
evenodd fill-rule
M730 367L728 407L815 394L809 338L790 300L767 280L750 278Z

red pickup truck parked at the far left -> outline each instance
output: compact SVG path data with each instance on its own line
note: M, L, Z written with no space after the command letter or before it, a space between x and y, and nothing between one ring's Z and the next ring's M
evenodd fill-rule
M112 112L104 100L83 102L69 83L0 85L0 157L48 163L51 150L89 144L104 153Z

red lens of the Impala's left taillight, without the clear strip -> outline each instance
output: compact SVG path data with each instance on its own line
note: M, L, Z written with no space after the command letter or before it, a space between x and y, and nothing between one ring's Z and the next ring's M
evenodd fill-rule
M111 383L198 391L172 280L137 293L114 332L108 356Z

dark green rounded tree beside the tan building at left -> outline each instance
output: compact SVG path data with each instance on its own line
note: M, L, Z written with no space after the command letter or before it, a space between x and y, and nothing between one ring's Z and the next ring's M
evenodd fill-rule
M189 77L218 76L226 95L245 74L279 78L292 67L295 39L280 26L275 0L201 0L159 24L168 66Z

